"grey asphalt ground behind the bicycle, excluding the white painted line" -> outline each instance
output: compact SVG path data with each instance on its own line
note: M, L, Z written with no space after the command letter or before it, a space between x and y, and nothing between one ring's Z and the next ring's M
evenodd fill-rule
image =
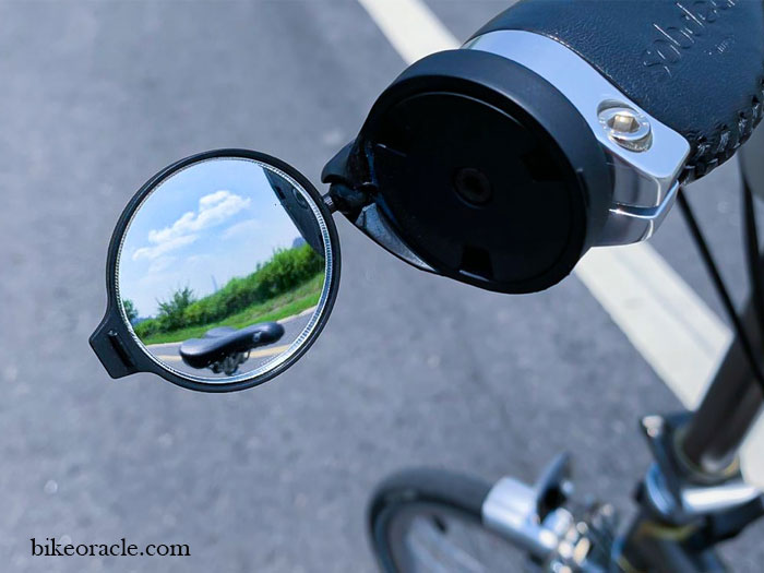
M459 38L506 2L431 0ZM427 465L533 480L571 451L578 490L628 515L637 418L678 401L577 278L509 297L429 276L337 218L339 296L277 381L204 395L112 381L87 345L132 193L215 147L317 184L404 68L336 1L0 3L0 562L13 572L371 571L365 504ZM691 198L744 295L733 165ZM653 241L714 308L678 213ZM760 571L762 525L729 544ZM187 558L37 558L29 538L188 544Z

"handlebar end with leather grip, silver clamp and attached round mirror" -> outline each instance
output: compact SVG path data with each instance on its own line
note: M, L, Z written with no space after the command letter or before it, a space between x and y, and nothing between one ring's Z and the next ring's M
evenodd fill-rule
M762 117L762 4L711 4L518 2L391 84L324 168L326 198L253 152L169 167L115 231L93 348L115 378L194 390L276 375L334 302L330 207L409 264L501 293L649 238L680 183L729 159ZM642 65L601 49L619 43L649 46Z

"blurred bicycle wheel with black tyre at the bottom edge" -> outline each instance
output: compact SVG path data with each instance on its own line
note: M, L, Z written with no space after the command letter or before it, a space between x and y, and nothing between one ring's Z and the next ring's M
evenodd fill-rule
M369 536L384 572L522 571L525 551L489 532L481 506L491 486L432 469L386 479L369 505Z

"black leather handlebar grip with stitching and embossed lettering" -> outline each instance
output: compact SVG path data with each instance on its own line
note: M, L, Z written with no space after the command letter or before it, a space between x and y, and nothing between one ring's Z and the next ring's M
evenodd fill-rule
M683 135L685 181L729 159L762 118L762 0L523 0L476 36L498 29L568 46Z

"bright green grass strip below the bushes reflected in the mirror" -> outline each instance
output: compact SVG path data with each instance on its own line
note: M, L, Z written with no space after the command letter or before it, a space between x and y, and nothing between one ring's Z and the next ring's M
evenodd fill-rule
M274 322L294 317L300 312L315 307L321 299L321 290L323 289L324 274L319 273L310 280L307 280L299 287L274 297L265 302L252 305L244 310L231 314L230 317L217 322L202 324L198 326L189 326L171 332L163 332L142 337L141 341L145 345L150 344L169 344L188 341L189 338L199 338L211 329L218 326L232 326L242 329L259 322Z

